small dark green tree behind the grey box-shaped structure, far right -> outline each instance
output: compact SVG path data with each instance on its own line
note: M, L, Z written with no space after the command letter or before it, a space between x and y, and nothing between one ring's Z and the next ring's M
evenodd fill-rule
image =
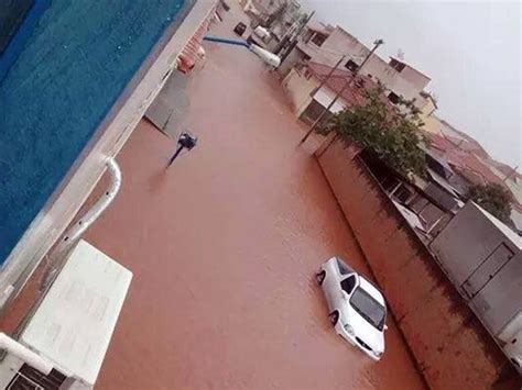
M469 189L467 198L497 216L500 221L510 222L511 194L502 186L496 182L474 186Z

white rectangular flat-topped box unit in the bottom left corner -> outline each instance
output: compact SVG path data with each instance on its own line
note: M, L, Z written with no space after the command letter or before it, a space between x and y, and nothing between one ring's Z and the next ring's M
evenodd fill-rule
M18 346L6 347L0 389L91 389L131 279L128 269L79 241L18 343L6 336Z

